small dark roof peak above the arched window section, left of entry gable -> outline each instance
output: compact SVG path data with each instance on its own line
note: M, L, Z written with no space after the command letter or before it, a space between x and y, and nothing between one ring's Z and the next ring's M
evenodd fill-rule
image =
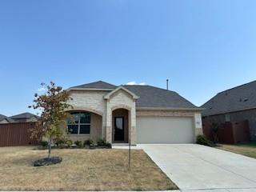
M83 84L80 86L72 86L69 88L70 89L103 89L103 90L114 90L115 88L117 88L117 86L114 86L108 82L102 82L102 81L98 81L98 82L90 82L87 84Z

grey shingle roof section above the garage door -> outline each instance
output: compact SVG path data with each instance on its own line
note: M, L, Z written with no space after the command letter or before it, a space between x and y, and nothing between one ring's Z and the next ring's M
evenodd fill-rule
M127 90L138 95L136 107L145 108L190 108L198 109L186 98L171 90L164 90L155 86L130 86L125 85Z

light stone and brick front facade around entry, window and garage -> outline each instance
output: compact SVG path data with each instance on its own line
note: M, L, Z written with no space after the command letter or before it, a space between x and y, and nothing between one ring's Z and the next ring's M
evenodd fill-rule
M194 133L195 136L202 134L201 113L198 111L184 110L139 110L136 109L136 99L125 89L119 89L110 95L109 98L104 98L109 94L110 90L70 90L70 105L74 111L89 111L100 115L102 118L101 131L93 131L100 135L70 135L71 138L85 140L86 138L104 138L106 142L112 142L112 112L116 109L128 110L129 116L129 138L132 145L136 144L136 117L137 116L175 116L175 117L191 117L194 118ZM99 120L98 120L99 121ZM91 127L94 129L94 127Z

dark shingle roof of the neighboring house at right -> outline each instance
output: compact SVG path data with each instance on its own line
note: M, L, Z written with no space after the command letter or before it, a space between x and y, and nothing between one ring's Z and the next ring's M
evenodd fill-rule
M256 81L218 93L202 105L203 116L256 108Z

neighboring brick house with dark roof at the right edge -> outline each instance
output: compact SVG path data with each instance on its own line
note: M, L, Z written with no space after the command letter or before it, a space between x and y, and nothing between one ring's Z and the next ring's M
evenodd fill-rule
M203 122L242 122L250 126L250 139L256 140L256 81L218 93L202 105Z

